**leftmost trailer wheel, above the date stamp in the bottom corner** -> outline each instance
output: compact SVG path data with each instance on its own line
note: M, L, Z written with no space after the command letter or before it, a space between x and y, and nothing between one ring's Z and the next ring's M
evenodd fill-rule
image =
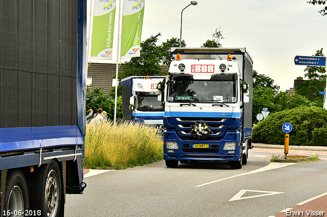
M26 179L20 170L14 170L7 176L4 213L7 215L8 211L11 213L14 212L12 215L17 214L15 216L24 216L25 210L29 210Z

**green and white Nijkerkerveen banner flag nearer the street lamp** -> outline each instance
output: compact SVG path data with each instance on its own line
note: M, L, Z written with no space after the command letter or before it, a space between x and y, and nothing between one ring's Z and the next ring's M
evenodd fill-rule
M140 56L145 0L123 0L121 58Z

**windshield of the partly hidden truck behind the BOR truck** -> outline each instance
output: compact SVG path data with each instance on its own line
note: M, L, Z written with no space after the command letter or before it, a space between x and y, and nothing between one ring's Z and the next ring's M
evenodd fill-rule
M164 112L164 107L158 101L158 96L138 96L137 108L138 111L148 112Z

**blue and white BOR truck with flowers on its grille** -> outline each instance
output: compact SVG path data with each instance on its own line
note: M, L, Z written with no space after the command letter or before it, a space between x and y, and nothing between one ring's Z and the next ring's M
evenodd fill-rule
M252 59L245 48L171 48L165 85L164 159L247 164Z

